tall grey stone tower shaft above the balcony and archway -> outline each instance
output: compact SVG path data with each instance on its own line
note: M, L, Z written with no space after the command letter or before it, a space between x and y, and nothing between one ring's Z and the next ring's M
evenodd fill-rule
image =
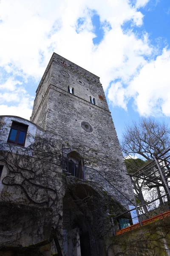
M111 182L111 194L127 207L129 180L98 76L53 53L36 91L31 121L77 151L81 164Z

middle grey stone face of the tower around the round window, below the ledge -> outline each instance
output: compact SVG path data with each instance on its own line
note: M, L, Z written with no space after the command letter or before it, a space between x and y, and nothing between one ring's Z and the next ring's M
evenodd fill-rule
M83 121L91 125L92 132L82 128ZM67 92L59 93L51 87L45 129L56 132L69 147L77 149L85 166L97 169L122 193L127 192L126 196L129 196L130 187L125 175L124 160L108 111L105 112L90 102L85 104L82 100L77 100L76 96L67 95ZM116 191L114 197L118 201L128 204L125 198L115 193Z

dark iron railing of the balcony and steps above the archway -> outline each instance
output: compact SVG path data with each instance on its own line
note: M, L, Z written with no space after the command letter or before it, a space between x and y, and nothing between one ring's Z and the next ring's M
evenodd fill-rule
M92 169L80 164L74 163L73 160L62 160L63 173L68 177L76 177L81 180L88 180L102 186L108 192L108 181L96 169Z

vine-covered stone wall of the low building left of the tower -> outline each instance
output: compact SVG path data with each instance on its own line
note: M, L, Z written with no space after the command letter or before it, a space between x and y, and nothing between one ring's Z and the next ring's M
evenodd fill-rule
M12 121L28 125L24 147L7 143ZM62 233L61 155L57 134L17 116L0 116L0 255L7 246L23 249L49 239L49 221Z

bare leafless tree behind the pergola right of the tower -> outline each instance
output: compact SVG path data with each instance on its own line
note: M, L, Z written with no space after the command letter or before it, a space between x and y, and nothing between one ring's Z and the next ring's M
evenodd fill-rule
M131 159L137 157L142 160L147 160L149 163L154 159L154 156L159 158L159 155L170 147L170 128L164 122L160 123L153 118L140 118L138 123L133 122L132 125L125 126L121 145L125 157L130 157ZM167 164L167 162L165 164ZM137 166L137 163L135 163L135 165L137 171L140 165ZM167 169L170 170L170 166L167 165ZM169 176L170 172L167 173L166 178ZM136 192L139 190L138 181L139 180L136 179L133 180ZM163 183L160 185L146 182L140 183L140 186L146 185L148 189L156 188L158 196L161 195L160 187L163 187L167 193L167 189ZM170 200L170 198L168 198L168 200ZM160 204L164 204L161 198Z

